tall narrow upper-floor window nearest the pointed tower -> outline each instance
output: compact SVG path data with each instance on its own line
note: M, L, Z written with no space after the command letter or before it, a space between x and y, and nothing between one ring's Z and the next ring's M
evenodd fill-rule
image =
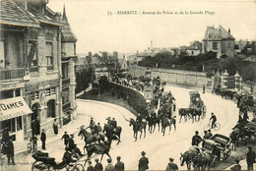
M50 33L45 34L45 56L47 61L47 71L53 70L53 49L52 49L53 36Z

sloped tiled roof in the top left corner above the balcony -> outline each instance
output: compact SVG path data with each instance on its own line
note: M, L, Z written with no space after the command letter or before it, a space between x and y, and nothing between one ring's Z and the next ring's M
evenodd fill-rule
M12 0L0 1L0 24L40 28L39 22Z

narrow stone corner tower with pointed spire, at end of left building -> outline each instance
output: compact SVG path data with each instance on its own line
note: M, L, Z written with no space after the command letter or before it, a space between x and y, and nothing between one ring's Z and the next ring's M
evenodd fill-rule
M64 114L64 124L68 123L76 116L76 72L77 60L76 42L77 37L70 28L65 6L63 9L61 29L61 69L62 69L62 110Z

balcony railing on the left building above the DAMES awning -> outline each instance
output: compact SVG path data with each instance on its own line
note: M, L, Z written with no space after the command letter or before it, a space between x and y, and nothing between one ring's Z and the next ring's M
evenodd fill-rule
M12 80L12 79L22 79L25 76L24 68L15 68L15 69L1 69L0 72L1 81Z

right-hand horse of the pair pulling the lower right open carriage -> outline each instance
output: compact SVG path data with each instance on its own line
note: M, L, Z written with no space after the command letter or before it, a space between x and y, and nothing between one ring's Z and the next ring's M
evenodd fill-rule
M205 170L206 167L208 167L208 170L210 170L210 165L214 159L214 155L210 151L203 151L201 153L198 153L195 157L192 158L193 166L195 170Z

